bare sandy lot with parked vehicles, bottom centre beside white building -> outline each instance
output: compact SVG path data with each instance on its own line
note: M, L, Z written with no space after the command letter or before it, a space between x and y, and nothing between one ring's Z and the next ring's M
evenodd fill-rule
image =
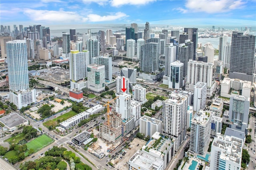
M132 157L132 155L134 155L137 152L137 150L139 150L145 144L145 140L142 140L140 138L134 138L134 140L130 142L131 149L123 149L124 151L126 151L126 154L124 156L121 152L118 156L116 156L116 159L111 160L111 162L114 164L114 167L119 170L128 170L129 165L127 162L129 162L129 159ZM122 157L122 159L120 159L120 157Z

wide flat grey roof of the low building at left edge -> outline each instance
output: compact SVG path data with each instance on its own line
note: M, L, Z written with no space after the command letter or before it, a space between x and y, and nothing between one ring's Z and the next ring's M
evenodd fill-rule
M13 128L22 123L28 122L26 119L14 112L0 118L0 121L8 128Z

